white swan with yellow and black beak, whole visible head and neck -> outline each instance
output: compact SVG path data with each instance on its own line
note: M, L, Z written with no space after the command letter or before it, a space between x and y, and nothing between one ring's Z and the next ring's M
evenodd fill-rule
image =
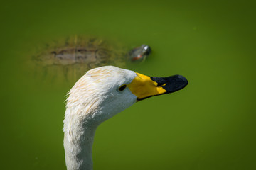
M97 67L70 89L64 118L68 170L92 170L92 143L100 123L151 96L169 94L188 84L185 77L148 77L113 66Z

